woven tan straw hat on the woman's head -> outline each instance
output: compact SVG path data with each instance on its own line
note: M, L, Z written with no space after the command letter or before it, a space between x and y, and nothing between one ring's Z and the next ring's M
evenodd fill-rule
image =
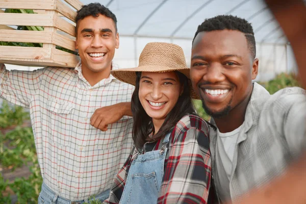
M111 74L118 80L135 86L136 71L180 71L190 79L190 68L186 65L186 59L182 47L167 42L147 43L140 54L138 67L111 70ZM198 99L199 97L192 89L190 82L189 86L191 97Z

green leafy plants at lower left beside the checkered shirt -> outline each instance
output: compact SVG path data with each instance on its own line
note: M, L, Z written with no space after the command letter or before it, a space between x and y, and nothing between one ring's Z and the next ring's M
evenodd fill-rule
M21 127L25 119L29 119L29 113L22 107L10 106L6 101L0 108L0 130L6 128L3 135L0 132L0 165L3 168L14 171L21 166L28 166L31 172L28 178L20 177L15 181L5 181L0 174L0 203L10 203L10 194L3 192L10 188L17 196L17 203L37 203L42 177L37 161L33 131L31 127ZM13 129L13 127L15 127Z

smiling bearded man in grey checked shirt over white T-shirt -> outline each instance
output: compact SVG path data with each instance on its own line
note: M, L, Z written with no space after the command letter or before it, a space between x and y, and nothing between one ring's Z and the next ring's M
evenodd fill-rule
M284 174L293 161L304 158L306 152L306 91L293 87L270 95L264 87L252 83L259 66L255 46L250 23L231 15L206 19L193 41L193 88L212 116L211 123L217 126L217 131L210 131L210 150L212 185L221 202L249 203L243 200L244 193L263 188ZM300 176L305 181L305 173ZM282 187L288 189L285 185ZM266 200L273 203L287 193L277 187L264 189L263 194L269 198ZM295 188L300 193L301 189ZM293 200L296 198L291 196L286 201L295 203Z

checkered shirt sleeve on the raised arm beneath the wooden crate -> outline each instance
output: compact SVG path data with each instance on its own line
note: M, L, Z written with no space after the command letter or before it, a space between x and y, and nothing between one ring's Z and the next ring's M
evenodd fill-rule
M29 107L31 99L39 90L43 71L8 71L4 64L0 64L0 97L13 104Z

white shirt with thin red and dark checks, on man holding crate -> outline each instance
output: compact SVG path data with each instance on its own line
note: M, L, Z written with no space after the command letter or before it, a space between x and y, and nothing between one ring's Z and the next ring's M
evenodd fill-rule
M112 75L91 86L80 63L35 71L8 71L0 64L0 96L30 109L43 181L66 199L111 187L132 149L133 120L124 116L102 132L90 118L98 108L131 101L133 91Z

